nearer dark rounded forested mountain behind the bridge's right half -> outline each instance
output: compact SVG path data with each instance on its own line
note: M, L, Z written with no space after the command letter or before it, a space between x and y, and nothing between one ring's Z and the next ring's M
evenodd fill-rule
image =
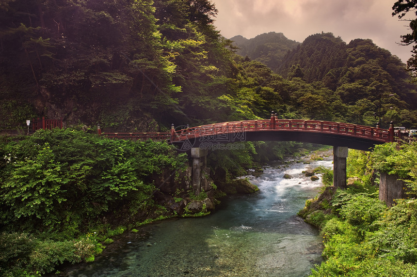
M235 42L235 45L239 43ZM262 40L252 43L260 45ZM271 53L275 52L276 49L271 50ZM254 55L259 56L260 53ZM318 116L319 112L316 112L310 117L328 119L324 112L329 107L327 104L332 106L332 103L337 103L335 101L340 101L334 106L334 111L327 111L327 114L333 114L332 120L371 124L371 115L379 109L381 95L381 109L386 115L386 122L392 120L410 127L416 124L416 85L409 72L398 57L369 39L355 39L346 44L332 33L310 35L302 44L288 51L282 62L269 67L288 82L304 81L321 87L322 92L315 92L313 88L304 94L296 92L294 95L298 96L295 98L285 97L292 92L280 88L284 102L302 108L305 114L309 108L299 106L296 102L309 94L320 95L314 96L317 101L312 103L320 108L321 115ZM323 92L324 88L330 91ZM317 103L321 101L320 98L324 99L324 107ZM338 113L341 115L338 116Z

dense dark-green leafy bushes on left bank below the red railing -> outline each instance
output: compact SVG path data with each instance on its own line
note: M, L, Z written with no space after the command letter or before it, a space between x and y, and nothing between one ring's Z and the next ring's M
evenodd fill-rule
M70 129L40 130L1 150L3 228L47 227L70 236L80 218L129 209L152 201L151 175L184 167L166 143L110 140Z

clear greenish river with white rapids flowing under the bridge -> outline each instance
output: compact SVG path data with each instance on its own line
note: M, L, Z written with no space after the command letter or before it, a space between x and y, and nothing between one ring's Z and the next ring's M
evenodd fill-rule
M271 164L245 176L259 192L223 200L211 215L153 223L117 238L89 264L65 277L303 277L321 262L322 238L297 212L319 181L302 173L323 161ZM284 174L293 178L284 179ZM320 175L319 175L320 177Z

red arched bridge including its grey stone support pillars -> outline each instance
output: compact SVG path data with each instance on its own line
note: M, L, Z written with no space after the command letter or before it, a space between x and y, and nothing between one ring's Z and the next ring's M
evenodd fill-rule
M97 127L98 133L101 130ZM277 119L273 113L269 120L246 120L214 123L196 127L171 126L170 133L105 133L109 138L166 140L180 151L191 150L192 190L198 195L203 189L201 176L206 167L209 149L221 149L218 145L237 141L287 140L318 143L333 146L333 185L346 187L346 158L348 149L368 151L376 144L401 139L401 133L389 129L374 128L349 123L315 120ZM216 147L217 146L217 147ZM401 187L402 188L402 187ZM391 196L380 199L392 200Z

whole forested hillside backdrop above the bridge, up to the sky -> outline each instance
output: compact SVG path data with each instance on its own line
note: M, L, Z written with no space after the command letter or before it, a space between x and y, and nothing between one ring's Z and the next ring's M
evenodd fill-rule
M5 1L0 121L160 131L274 110L374 125L382 95L385 123L417 125L412 77L370 40L321 33L298 44L272 32L235 37L236 49L213 26L216 13L207 0Z

